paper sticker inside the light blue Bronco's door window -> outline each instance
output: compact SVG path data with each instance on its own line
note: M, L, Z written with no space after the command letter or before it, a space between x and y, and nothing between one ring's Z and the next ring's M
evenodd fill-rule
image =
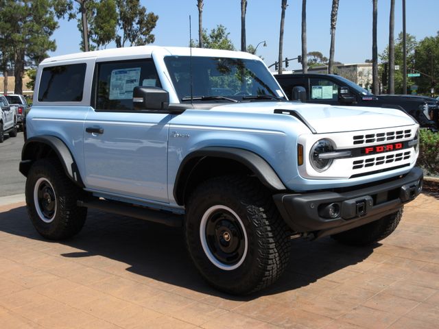
M140 67L111 71L109 99L130 99L132 90L139 86Z

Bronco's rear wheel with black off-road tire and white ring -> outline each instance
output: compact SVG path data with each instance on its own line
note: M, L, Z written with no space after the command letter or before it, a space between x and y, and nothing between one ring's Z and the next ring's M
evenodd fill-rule
M37 187L45 184L52 189L55 202L53 215L44 216L43 201L38 197ZM38 233L51 240L66 239L80 232L87 215L87 208L78 207L76 202L82 196L82 190L64 173L62 165L56 158L36 160L29 170L26 180L27 213Z

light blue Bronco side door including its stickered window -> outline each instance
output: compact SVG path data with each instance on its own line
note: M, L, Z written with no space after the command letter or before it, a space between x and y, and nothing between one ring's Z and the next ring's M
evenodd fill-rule
M136 111L134 86L161 86L151 59L97 63L94 107L84 128L85 185L93 191L169 202L171 114Z

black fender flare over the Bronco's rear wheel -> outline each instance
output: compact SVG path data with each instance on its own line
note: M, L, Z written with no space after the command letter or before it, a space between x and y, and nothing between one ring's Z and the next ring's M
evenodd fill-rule
M37 145L47 145L55 152L56 156L60 160L64 172L67 177L72 180L75 184L80 187L84 187L82 178L78 169L78 166L69 150L69 147L58 137L50 135L35 136L27 139L23 149L21 151L21 162L19 165L20 172L27 176L32 163L36 160L36 149Z

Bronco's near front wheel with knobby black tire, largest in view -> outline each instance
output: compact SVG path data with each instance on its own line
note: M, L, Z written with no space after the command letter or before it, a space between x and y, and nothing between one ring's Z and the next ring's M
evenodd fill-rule
M289 228L254 179L228 175L195 188L185 221L189 254L204 280L232 294L277 280L289 260Z

